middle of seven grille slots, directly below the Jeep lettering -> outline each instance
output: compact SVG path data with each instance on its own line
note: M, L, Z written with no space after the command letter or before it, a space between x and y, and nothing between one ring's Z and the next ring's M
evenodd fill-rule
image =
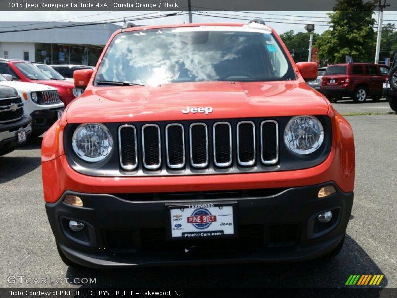
M208 165L208 128L205 123L193 123L189 128L190 163L196 168Z

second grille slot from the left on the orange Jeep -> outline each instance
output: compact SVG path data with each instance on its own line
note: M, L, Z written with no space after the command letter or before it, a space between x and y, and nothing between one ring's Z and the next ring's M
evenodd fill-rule
M161 166L160 127L157 124L145 124L142 127L143 164L149 170Z

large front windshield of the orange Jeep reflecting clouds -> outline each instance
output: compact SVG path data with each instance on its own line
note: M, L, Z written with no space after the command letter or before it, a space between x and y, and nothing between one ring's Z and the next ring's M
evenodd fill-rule
M295 79L271 34L216 28L121 33L107 49L96 81L158 85Z

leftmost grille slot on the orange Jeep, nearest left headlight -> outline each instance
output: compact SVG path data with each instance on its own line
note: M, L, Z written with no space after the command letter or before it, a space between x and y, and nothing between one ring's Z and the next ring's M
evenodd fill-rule
M119 127L120 165L125 170L133 170L138 166L136 128L133 125Z

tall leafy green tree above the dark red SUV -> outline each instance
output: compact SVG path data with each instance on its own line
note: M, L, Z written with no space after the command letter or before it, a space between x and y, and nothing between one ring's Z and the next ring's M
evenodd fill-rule
M328 63L344 63L346 55L355 62L372 62L375 56L373 2L336 0L330 17L330 29L318 39L320 59Z

